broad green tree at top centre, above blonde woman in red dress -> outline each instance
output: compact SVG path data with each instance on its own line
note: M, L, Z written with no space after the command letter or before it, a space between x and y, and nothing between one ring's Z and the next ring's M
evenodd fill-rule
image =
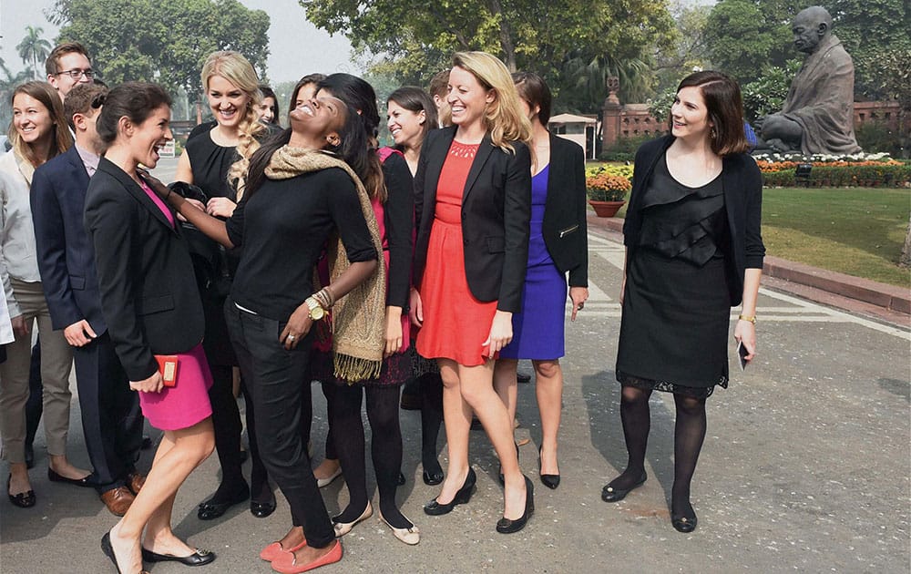
M533 70L548 80L565 74L570 61L577 72L594 62L598 76L611 62L668 44L673 33L665 0L437 0L420 9L404 0L301 4L316 26L344 34L355 50L380 55L383 73L398 72L418 85L460 50L485 50L511 70ZM597 83L589 80L581 83ZM606 95L601 83L598 103Z

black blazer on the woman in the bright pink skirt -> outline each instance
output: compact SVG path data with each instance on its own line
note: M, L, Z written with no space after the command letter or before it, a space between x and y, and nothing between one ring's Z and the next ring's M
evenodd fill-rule
M158 369L153 354L186 353L205 320L180 227L133 179L102 158L86 195L101 310L130 381Z

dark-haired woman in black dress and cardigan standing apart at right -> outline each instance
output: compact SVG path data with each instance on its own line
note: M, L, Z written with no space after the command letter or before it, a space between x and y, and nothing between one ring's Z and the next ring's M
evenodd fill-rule
M756 297L763 272L763 179L747 155L740 87L718 72L685 77L670 108L670 135L636 154L621 300L617 380L629 462L603 488L617 502L645 482L649 397L673 393L674 484L670 520L696 528L690 484L705 437L705 400L727 387L730 310L734 338L756 353Z

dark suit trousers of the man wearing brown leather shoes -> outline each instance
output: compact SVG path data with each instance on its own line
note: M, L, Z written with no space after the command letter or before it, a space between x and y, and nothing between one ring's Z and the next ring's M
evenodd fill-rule
M136 468L143 425L139 395L129 389L107 332L74 347L73 359L88 458L95 467L98 494L103 494L124 486Z

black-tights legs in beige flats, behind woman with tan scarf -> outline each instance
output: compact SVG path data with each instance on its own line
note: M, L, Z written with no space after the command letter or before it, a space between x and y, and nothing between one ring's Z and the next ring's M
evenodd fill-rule
M361 384L323 383L323 392L333 395L329 412L333 424L335 450L348 487L348 507L336 522L353 522L363 513L367 497L367 468L364 458L365 439L361 403L367 396L367 419L370 421L370 454L374 461L376 489L380 494L383 518L394 528L414 526L395 505L399 469L402 466L402 429L399 426L398 386L363 386ZM327 388L332 387L332 388Z

